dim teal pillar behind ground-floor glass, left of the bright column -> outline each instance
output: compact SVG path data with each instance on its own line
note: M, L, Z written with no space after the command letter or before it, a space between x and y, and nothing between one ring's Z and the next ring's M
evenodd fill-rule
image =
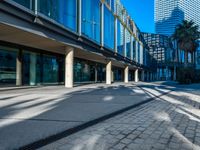
M30 54L30 80L29 84L30 85L36 85L36 63L37 63L37 57L36 53L31 53Z

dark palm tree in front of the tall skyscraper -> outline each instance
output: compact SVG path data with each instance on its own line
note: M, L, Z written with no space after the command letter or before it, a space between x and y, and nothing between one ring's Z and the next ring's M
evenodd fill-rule
M180 49L184 50L184 64L188 64L188 52L192 54L192 63L194 63L194 53L197 48L196 40L200 38L199 26L193 21L183 20L175 29L173 39L177 41Z

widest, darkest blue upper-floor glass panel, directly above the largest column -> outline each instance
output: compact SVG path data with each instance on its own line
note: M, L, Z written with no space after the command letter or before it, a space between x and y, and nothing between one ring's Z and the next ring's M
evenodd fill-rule
M76 31L76 0L38 0L39 12Z

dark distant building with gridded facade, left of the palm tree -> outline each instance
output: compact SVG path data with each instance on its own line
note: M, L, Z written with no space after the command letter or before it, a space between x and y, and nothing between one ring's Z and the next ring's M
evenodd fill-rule
M160 34L143 33L145 42L152 56L151 64L157 69L157 80L175 80L176 68L175 52L172 41L168 36Z

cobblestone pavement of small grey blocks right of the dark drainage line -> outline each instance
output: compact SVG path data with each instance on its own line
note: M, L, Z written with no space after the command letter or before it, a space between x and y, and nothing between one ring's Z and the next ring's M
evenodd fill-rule
M148 94L162 91L148 85L142 89ZM200 150L199 85L177 88L40 149Z

